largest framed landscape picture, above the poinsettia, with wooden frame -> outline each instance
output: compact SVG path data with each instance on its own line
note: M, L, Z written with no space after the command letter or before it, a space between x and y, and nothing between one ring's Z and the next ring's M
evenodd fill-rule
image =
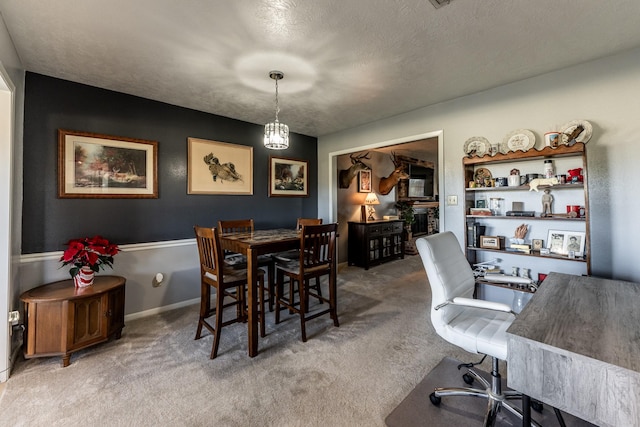
M58 130L58 197L158 198L158 143Z

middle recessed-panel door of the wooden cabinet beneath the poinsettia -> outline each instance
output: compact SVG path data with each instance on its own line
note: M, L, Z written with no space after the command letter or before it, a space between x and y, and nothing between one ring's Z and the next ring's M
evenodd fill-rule
M67 351L106 339L105 313L107 302L107 295L96 295L69 301Z

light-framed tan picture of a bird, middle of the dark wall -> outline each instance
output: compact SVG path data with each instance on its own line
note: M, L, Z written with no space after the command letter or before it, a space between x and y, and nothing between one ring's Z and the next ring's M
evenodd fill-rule
M187 194L253 194L253 147L189 138Z

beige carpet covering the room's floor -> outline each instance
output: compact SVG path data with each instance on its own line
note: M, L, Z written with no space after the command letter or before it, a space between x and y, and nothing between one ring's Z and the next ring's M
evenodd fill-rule
M343 269L338 298L341 326L310 321L307 343L297 318L274 325L271 313L255 358L236 324L210 360L191 306L128 322L122 339L74 353L67 368L59 357L21 361L0 425L384 426L443 357L478 360L433 331L419 257Z

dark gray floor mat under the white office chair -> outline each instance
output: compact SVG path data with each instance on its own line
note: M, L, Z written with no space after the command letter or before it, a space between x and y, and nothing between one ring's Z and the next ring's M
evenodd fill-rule
M458 370L459 360L445 357L429 374L409 393L409 395L389 414L388 427L452 427L482 426L487 409L487 401L473 397L443 397L440 406L434 406L429 394L435 387L469 387L462 379L466 368ZM488 372L475 369L482 377L491 381ZM502 380L504 390L506 381ZM477 387L478 384L474 384ZM515 401L518 402L518 401ZM541 412L531 410L531 417L543 426L560 425L553 408L543 405ZM593 427L593 424L562 413L568 427ZM521 426L522 421L507 410L501 410L496 426Z

